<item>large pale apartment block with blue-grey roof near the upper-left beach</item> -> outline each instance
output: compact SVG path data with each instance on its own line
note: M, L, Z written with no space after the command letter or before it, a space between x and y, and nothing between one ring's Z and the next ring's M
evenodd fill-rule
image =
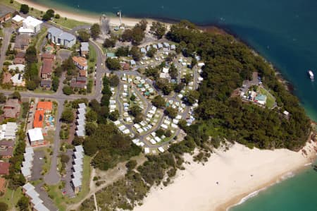
M76 43L76 37L68 32L63 32L59 28L49 28L47 30L47 38L56 45L61 45L66 48L73 47Z

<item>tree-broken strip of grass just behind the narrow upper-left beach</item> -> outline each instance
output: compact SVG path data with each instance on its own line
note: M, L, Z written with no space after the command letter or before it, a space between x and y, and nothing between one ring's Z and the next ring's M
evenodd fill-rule
M4 0L4 1L1 1L1 4L4 4L6 6L10 6L10 7L14 8L15 10L20 11L21 4L18 3L17 1L13 1L13 4L10 4L10 0ZM30 16L34 16L35 18L42 19L42 16L44 15L44 11L42 11L42 13L41 13L41 11L39 11L35 8L33 8L33 9L30 8L29 13L27 13L27 14ZM53 23L53 21L54 21L54 23ZM50 21L50 23L53 23L56 25L61 25L62 27L68 28L68 29L72 29L72 28L80 26L80 25L89 25L89 23L85 23L85 22L73 20L73 19L68 19L68 18L63 18L63 17L61 17L59 19L54 18L53 21Z

